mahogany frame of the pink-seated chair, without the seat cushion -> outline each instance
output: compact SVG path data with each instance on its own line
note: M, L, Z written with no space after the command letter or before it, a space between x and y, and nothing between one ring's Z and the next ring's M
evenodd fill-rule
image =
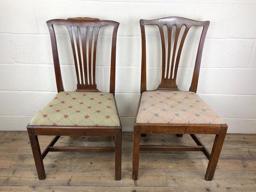
M194 67L194 73L191 81L189 91L197 92L198 78L200 72L202 51L204 41L209 27L208 21L198 22L182 17L166 17L155 20L140 19L141 38L142 38L142 59L141 59L141 94L146 89L146 36L145 36L145 25L156 25L159 28L162 44L162 78L156 90L161 91L179 91L176 84L177 71L179 66L179 60L182 53L183 44L188 33L188 30L192 26L203 27L202 34L199 41L197 57ZM163 27L167 27L167 38L168 38L168 50L167 50L167 65L166 65L166 53L165 53L165 37ZM172 40L172 27L175 26L175 42L173 46L173 56L170 58L171 40ZM185 26L184 33L182 35L180 45L178 47L177 56L177 44L178 38L182 26ZM171 65L170 65L171 62ZM166 67L167 66L167 67ZM165 71L167 70L167 71ZM169 75L169 78L168 78ZM171 78L172 77L172 78ZM140 151L202 151L206 158L209 160L208 167L205 174L205 180L210 181L213 179L216 166L221 153L221 148L227 132L227 124L161 124L161 123L136 123L138 111L140 108L141 95L137 114L135 117L134 124L134 135L133 135L133 180L138 179L139 171L139 152ZM155 146L155 145L140 145L140 138L145 134L176 134L178 137L182 137L183 134L189 134L191 138L196 142L197 146ZM205 145L200 141L196 134L214 134L216 135L214 145L211 153L207 150Z

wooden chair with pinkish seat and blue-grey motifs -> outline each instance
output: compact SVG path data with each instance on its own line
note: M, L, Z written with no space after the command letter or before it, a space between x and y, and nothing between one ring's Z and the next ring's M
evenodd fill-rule
M156 25L159 28L162 45L162 77L161 83L155 91L146 89L146 40L145 25ZM167 35L164 35L164 26ZM173 28L173 26L175 26ZM182 26L184 32L182 34ZM183 44L192 26L203 27L199 41L194 73L189 91L179 91L176 84L177 71ZM204 101L196 94L198 77L202 58L202 51L209 22L198 22L182 17L166 17L155 20L140 19L142 38L141 60L141 96L134 124L133 143L133 179L138 179L140 151L202 151L209 163L205 179L212 180L227 131L227 124L223 122ZM172 57L172 30L175 29ZM181 34L180 34L181 33ZM167 45L165 38L167 37ZM179 36L181 37L178 44ZM167 47L167 51L165 50ZM167 63L166 63L167 52ZM177 52L177 53L176 53ZM140 145L141 134L190 134L197 146L148 146ZM215 141L211 153L195 134L215 134Z

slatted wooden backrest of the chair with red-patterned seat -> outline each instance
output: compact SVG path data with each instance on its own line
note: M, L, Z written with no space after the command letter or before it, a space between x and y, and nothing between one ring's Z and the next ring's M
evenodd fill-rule
M55 78L58 92L64 91L59 65L59 56L54 25L60 24L67 27L74 56L77 78L76 91L98 91L95 82L96 49L99 30L102 26L114 26L112 34L110 92L115 94L116 71L116 37L119 23L112 20L99 20L97 18L68 18L48 20L50 32Z

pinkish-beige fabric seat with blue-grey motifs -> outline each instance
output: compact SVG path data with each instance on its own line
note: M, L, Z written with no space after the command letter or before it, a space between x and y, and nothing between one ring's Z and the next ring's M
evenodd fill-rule
M223 124L194 92L143 92L136 123Z

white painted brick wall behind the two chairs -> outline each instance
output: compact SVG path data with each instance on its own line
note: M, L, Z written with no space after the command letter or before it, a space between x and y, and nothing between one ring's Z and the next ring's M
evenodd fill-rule
M0 1L0 130L26 130L32 116L56 94L51 42L46 21L97 17L120 23L117 38L116 99L124 131L133 131L140 92L139 19L182 16L210 20L198 93L229 125L229 133L256 133L256 1L126 0ZM57 42L65 89L76 77L67 32L58 27ZM96 81L109 90L110 27L100 31ZM191 28L180 59L177 83L188 90L200 30ZM158 30L146 27L147 88L161 75Z

